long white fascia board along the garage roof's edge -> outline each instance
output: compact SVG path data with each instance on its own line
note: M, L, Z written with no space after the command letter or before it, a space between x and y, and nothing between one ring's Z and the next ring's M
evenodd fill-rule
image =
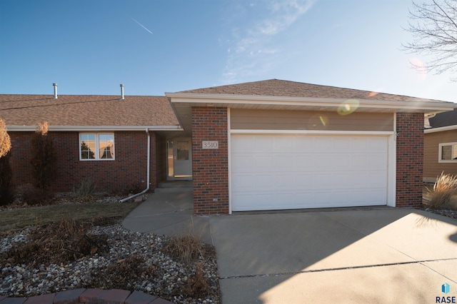
M171 103L226 103L226 104L263 104L272 106L329 106L338 107L349 100L357 100L359 108L383 108L392 110L451 111L457 103L448 101L381 101L357 98L315 98L291 96L258 96L205 93L165 93Z

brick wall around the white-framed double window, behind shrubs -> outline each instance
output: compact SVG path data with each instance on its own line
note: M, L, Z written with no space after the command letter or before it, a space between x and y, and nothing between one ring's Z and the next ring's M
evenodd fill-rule
M32 132L9 132L14 186L32 183L30 140ZM72 191L83 179L95 181L100 191L124 191L131 185L146 188L145 131L114 132L114 161L79 161L78 132L49 132L56 150L56 192ZM151 190L156 188L156 133L151 132Z

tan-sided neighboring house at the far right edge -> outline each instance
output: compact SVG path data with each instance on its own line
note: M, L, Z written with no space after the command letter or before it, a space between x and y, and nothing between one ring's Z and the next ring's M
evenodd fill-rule
M423 181L457 176L457 109L428 117L423 137Z

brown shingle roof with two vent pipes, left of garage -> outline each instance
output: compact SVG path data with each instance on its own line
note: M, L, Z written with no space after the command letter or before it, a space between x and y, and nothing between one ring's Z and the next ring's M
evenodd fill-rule
M6 126L176 126L165 96L0 95Z

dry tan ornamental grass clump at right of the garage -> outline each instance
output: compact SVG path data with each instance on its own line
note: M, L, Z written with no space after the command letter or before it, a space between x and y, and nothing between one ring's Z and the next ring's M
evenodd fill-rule
M432 189L428 189L430 201L427 206L432 209L456 209L453 198L457 194L457 177L441 173Z

